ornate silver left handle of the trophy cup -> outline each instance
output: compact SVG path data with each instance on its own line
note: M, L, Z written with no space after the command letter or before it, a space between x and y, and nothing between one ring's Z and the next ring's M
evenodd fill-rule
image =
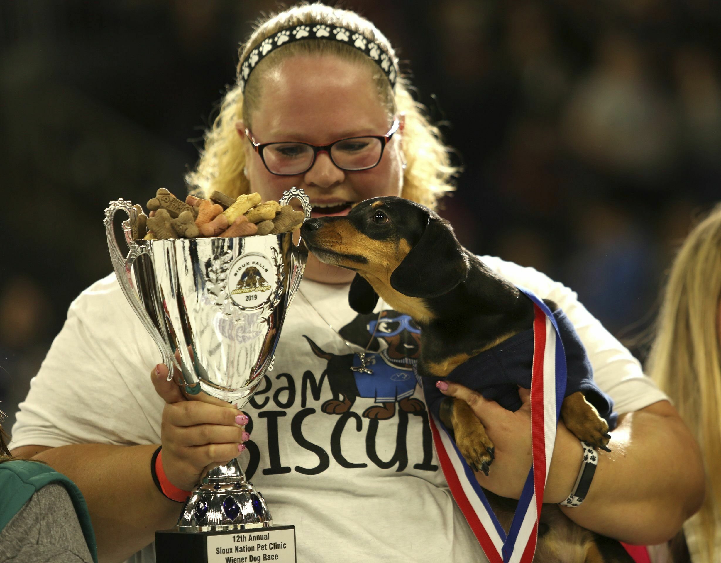
M128 256L124 258L123 254L120 252L120 247L118 247L118 240L115 239L115 231L112 230L112 222L115 219L115 213L118 213L118 211L124 211L128 215L128 218L123 221L122 224L123 232L125 233L125 241L128 243L130 251L128 252ZM168 366L168 381L170 381L172 379L172 369L170 368L172 365L175 365L180 370L180 365L178 365L173 353L163 340L163 337L158 329L156 329L149 314L146 312L140 299L136 295L136 291L133 289L133 276L131 275L133 262L138 260L138 257L142 254L148 254L146 247L137 244L136 241L133 240L131 223L135 222L137 217L138 211L133 208L133 203L130 201L125 201L123 198L120 198L119 200L110 202L110 205L105 210L105 219L102 220L102 223L105 225L105 234L107 235L107 249L110 251L112 269L115 270L115 278L118 278L120 289L123 290L125 298L128 299L128 303L130 303L133 311L136 312L136 315L138 315L141 323L143 323L143 327L145 327L150 333L158 347L158 350L160 350L163 363Z

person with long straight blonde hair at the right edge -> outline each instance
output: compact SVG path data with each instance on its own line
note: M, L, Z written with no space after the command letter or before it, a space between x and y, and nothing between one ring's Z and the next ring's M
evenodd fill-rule
M666 284L648 372L701 445L702 509L684 524L694 563L721 557L721 205L691 231Z

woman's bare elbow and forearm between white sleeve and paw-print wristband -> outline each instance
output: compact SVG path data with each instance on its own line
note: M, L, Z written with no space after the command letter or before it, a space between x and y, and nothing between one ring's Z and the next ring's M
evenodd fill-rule
M619 421L611 433L611 453L600 452L588 496L580 506L561 510L604 536L629 544L661 544L702 505L701 451L668 401L629 412Z

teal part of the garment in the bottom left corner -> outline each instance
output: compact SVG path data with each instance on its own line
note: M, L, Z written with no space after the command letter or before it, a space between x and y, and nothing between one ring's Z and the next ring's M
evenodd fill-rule
M7 523L25 506L30 497L35 495L35 492L50 483L61 484L68 492L92 559L97 563L95 534L80 489L65 475L37 461L16 459L0 464L0 531L3 531Z

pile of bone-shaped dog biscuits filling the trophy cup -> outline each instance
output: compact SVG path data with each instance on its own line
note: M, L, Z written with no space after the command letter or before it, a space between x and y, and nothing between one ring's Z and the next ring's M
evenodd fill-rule
M261 202L257 193L231 198L216 191L207 200L188 195L182 201L164 187L148 201L149 215L140 205L133 207L138 211L131 223L135 240L280 234L298 228L305 218L291 205Z

